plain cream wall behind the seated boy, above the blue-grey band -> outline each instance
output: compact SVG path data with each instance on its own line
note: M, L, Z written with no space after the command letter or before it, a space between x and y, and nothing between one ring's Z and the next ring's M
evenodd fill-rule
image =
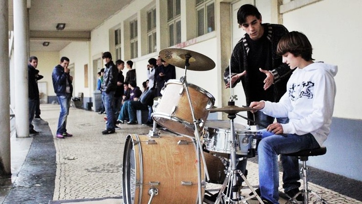
M338 65L335 117L362 119L361 0L322 0L283 15L311 41L316 61Z

